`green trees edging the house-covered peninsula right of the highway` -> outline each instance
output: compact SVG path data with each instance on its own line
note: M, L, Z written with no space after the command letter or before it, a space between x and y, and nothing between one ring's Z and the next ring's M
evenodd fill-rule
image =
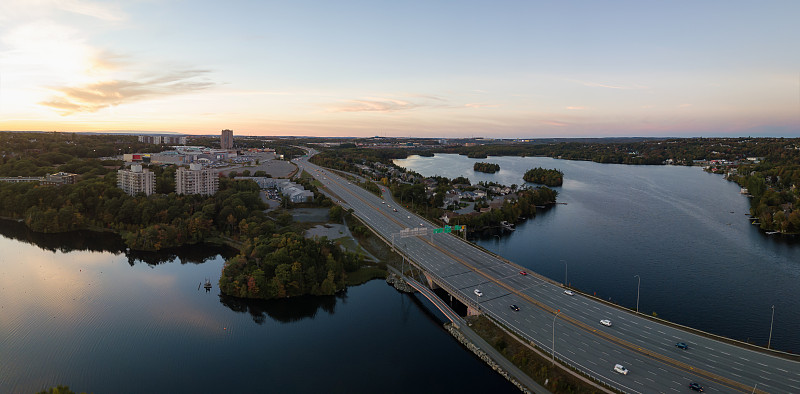
M505 200L499 209L492 209L479 214L461 215L450 219L451 224L465 224L468 231L497 226L502 221L516 223L522 217L536 215L536 206L552 204L556 201L558 192L548 187L524 189L517 192L517 198Z

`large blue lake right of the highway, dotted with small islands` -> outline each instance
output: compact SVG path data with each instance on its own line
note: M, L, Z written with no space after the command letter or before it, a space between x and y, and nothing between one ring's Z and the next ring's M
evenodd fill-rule
M500 172L473 172L475 162ZM575 288L711 333L800 353L800 243L747 220L739 186L697 167L630 166L541 157L412 156L424 176L524 184L535 167L564 172L558 201L513 233L475 240ZM563 261L562 261L563 260ZM566 271L565 272L565 268Z

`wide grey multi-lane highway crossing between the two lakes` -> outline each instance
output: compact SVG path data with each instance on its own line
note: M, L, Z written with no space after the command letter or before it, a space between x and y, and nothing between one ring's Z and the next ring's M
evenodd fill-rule
M430 233L435 227L396 204L387 190L379 198L306 158L295 163L385 239L406 228L425 227ZM689 383L696 382L706 392L800 393L797 361L661 324L577 293L565 294L553 282L450 234L395 237L394 242L458 298L477 304L481 312L542 349L555 347L557 359L618 390L691 392ZM531 251L533 262L535 255ZM512 304L519 310L512 310ZM603 319L611 326L600 324ZM689 348L679 349L678 342ZM615 364L629 373L615 372Z

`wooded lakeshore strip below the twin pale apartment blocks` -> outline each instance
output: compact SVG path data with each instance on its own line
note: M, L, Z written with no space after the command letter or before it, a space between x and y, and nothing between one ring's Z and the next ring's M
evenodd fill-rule
M239 236L248 223L263 222L264 208L258 185L226 178L211 197L132 197L117 188L115 174L60 187L0 183L0 216L23 219L32 230L46 233L114 230L140 250L197 243L213 232Z

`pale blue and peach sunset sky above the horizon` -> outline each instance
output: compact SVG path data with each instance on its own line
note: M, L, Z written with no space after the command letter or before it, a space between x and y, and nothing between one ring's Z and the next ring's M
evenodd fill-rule
M800 1L0 1L0 130L800 136Z

